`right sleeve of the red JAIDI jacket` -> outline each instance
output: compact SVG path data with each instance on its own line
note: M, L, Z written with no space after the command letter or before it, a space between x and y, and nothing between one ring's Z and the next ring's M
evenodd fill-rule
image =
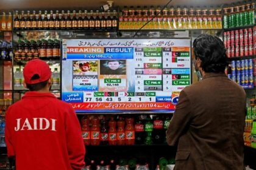
M72 107L66 115L66 144L69 163L73 169L80 170L85 166L85 146L79 120Z

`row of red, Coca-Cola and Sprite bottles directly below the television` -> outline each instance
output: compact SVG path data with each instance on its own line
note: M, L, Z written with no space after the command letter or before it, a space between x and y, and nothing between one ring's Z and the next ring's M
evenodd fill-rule
M170 116L138 117L83 117L82 137L85 145L163 144Z

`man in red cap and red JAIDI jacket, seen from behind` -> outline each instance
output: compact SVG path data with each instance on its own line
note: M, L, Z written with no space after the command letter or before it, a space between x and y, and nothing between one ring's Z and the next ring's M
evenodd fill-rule
M41 60L24 67L22 100L9 107L5 140L17 170L82 169L85 147L73 108L49 92L51 70Z

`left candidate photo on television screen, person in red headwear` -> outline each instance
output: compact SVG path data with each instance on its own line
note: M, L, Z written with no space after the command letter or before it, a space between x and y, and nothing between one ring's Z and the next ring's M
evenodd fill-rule
M73 75L98 75L98 61L73 61Z

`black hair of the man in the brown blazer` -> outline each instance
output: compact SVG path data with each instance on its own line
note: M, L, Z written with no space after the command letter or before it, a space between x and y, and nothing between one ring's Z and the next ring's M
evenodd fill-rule
M204 72L224 72L228 63L224 43L217 36L202 34L194 39L194 55L199 58Z

